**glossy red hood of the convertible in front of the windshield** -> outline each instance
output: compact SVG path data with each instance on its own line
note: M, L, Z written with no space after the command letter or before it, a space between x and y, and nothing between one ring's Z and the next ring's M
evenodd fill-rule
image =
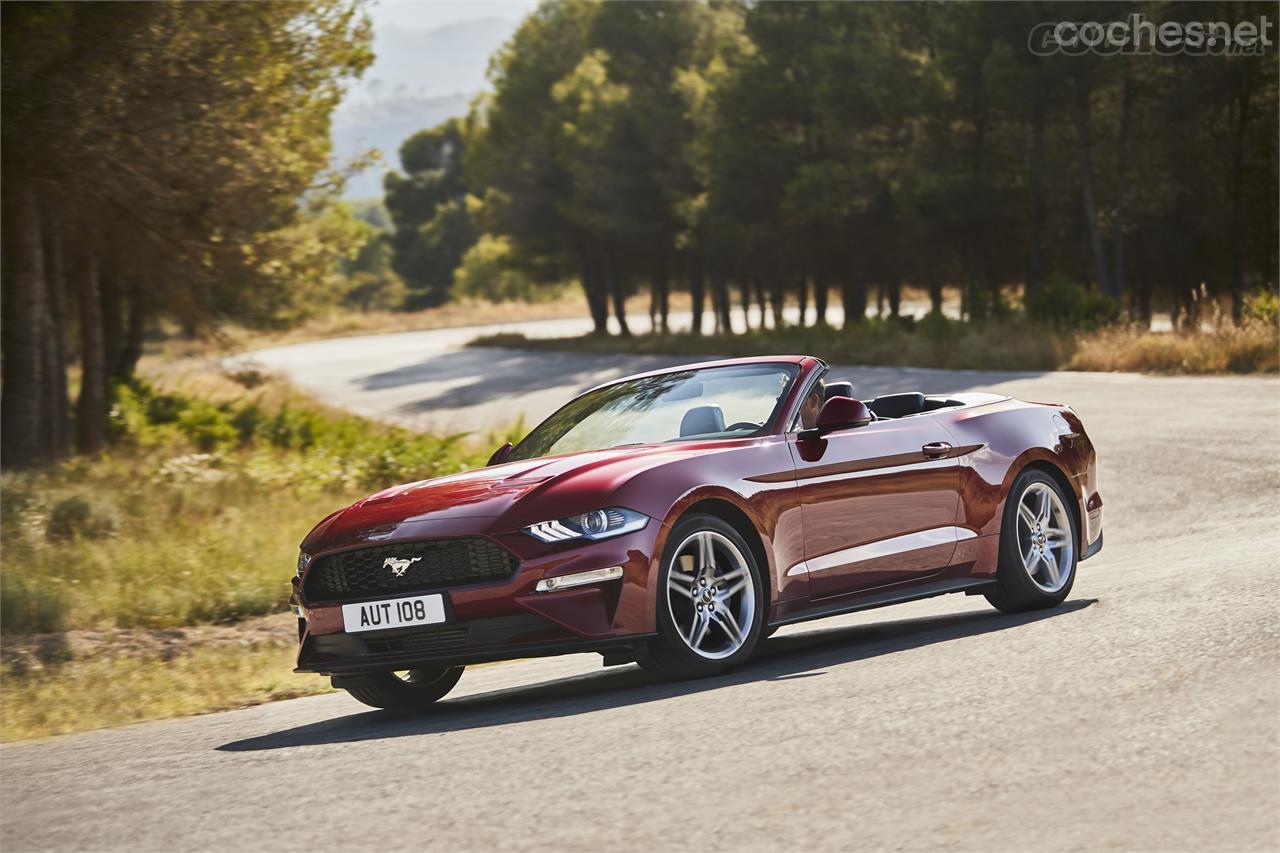
M413 526L421 535L503 532L535 521L600 508L627 479L655 465L740 446L741 441L678 442L586 451L506 462L370 494L321 521L303 540L308 553L362 540L401 538ZM474 525L434 524L476 519ZM485 521L479 521L485 520Z

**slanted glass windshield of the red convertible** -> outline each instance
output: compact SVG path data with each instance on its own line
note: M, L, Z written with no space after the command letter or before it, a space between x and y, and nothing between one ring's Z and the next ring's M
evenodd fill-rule
M596 388L539 424L509 459L763 433L797 371L794 364L744 364Z

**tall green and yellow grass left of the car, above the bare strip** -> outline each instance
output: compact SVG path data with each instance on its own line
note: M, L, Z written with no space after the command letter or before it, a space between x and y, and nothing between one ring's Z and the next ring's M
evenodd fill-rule
M483 465L488 452L463 435L268 397L214 403L119 388L110 452L5 473L4 633L278 612L297 544L323 516L388 485Z

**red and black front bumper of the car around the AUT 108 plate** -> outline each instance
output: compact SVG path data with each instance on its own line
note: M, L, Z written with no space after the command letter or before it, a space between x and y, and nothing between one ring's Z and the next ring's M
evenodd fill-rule
M300 615L297 672L360 674L421 666L457 666L568 652L626 649L652 637L654 601L649 589L667 528L580 544L547 546L524 534L492 538L520 557L504 580L433 589L444 596L439 625L348 634L342 606L358 598L308 603L302 579L293 580ZM539 580L591 569L622 566L618 580L536 592ZM398 593L416 594L406 590Z

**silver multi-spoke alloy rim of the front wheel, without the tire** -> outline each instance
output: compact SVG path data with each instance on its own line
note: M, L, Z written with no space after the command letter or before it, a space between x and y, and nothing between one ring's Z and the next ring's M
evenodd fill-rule
M755 621L755 584L732 539L699 530L680 543L667 574L667 608L700 657L719 661L742 648Z

